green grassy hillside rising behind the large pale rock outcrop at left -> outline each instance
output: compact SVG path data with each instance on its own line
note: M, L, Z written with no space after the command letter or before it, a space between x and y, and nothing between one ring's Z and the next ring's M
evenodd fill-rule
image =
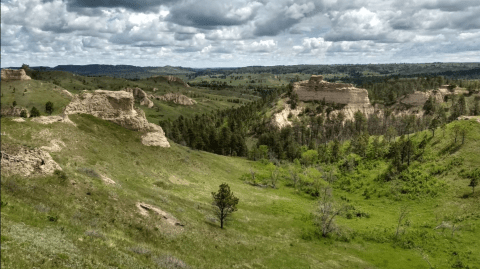
M93 91L97 89L121 90L124 88L139 87L147 94L163 95L170 92L179 92L192 99L197 104L194 106L182 106L171 102L152 100L153 108L141 106L150 122L158 124L160 120L174 120L179 115L193 117L195 114L209 113L257 100L259 97L253 91L234 90L210 90L206 88L185 87L179 82L169 82L164 77L152 77L136 81L112 78L112 77L85 77L62 71L29 71L33 78L28 81L2 81L1 82L1 105L9 107L13 101L18 106L30 110L33 106L45 115L45 103L53 102L55 110L53 114L59 114L69 103L67 96L59 94L63 89L73 94L79 94L83 90ZM153 92L157 88L158 91ZM15 92L13 91L15 89ZM25 92L26 90L26 92ZM235 102L232 102L235 100ZM137 104L139 106L139 104Z

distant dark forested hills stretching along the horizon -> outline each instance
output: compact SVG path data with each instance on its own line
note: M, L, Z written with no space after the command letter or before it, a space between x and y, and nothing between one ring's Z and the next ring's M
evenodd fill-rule
M12 69L18 69L12 68ZM188 75L190 79L204 75L230 74L341 74L344 82L360 85L369 79L384 76L401 78L444 76L449 79L480 79L480 63L419 63L419 64L334 64L334 65L277 65L228 68L139 67L133 65L59 65L30 67L41 71L67 71L83 76L111 76L142 79L155 75Z

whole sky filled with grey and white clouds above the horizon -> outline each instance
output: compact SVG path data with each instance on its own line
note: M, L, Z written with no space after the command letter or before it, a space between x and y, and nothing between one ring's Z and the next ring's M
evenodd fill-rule
M1 0L1 66L480 62L480 0Z

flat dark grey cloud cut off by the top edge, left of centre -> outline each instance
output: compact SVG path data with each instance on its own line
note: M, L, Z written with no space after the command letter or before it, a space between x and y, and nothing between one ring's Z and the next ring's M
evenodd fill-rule
M156 11L158 7L174 0L67 0L68 8L126 8L135 11Z

